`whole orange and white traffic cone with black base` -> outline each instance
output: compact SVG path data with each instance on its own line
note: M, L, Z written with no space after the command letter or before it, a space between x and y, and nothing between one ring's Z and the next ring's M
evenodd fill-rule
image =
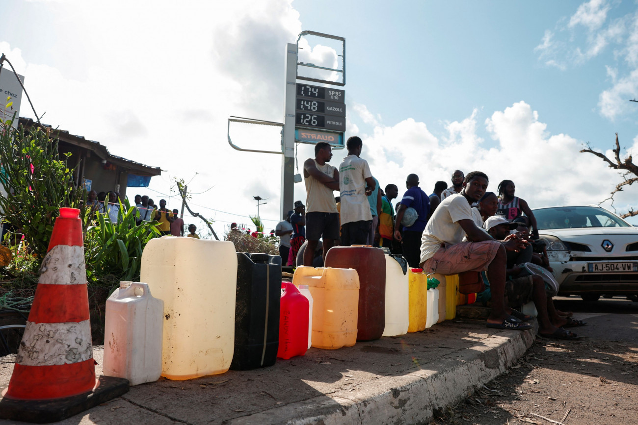
M13 375L0 401L4 419L41 422L44 415L47 422L60 421L97 404L87 400L102 403L128 391L126 380L109 377L108 385L101 385L95 377L79 213L61 208L56 219ZM119 394L95 395L107 387L114 394L114 385ZM38 408L52 405L50 399L59 399L53 411Z

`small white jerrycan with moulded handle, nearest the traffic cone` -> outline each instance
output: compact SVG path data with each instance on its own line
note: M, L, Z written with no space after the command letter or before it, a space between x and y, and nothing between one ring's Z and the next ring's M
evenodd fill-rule
M104 375L131 385L155 382L161 375L164 301L147 284L121 282L107 299Z

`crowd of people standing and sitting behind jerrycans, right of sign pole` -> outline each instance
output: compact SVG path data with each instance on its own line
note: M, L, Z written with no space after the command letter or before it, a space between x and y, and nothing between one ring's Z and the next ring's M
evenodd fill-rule
M352 136L346 148L348 155L338 168L329 164L332 148L323 142L315 145L315 157L304 162L306 205L295 201L275 229L284 264L321 265L335 245L384 247L427 274L475 272L486 288L477 301L491 306L489 328L530 329L532 317L515 308L533 301L540 335L577 338L565 328L584 322L557 310L543 278L524 267L531 263L551 271L534 214L515 196L514 182L503 180L498 194L487 192L486 173L465 175L457 169L452 185L436 182L427 195L419 176L410 174L393 208L399 188L387 184L382 189L360 157L362 140Z

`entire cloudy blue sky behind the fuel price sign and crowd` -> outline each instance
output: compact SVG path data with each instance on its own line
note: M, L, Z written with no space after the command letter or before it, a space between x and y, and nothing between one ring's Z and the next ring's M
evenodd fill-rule
M138 192L170 208L173 179L190 180L221 234L249 222L255 195L269 198L266 226L278 220L281 158L232 150L226 120L283 120L284 51L302 30L346 38L346 137L362 137L382 186L417 173L430 192L456 168L481 169L490 190L514 180L532 208L602 201L618 175L578 150L607 151L616 132L638 147L637 11L612 0L6 0L0 51L43 122L166 170ZM279 145L278 129L232 136ZM297 146L299 162L310 156ZM618 212L636 198L633 187L619 194Z

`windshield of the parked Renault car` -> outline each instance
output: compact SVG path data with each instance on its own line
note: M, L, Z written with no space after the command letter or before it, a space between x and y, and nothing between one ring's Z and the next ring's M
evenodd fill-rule
M560 206L534 210L538 229L579 229L581 227L631 227L616 215L594 206Z

